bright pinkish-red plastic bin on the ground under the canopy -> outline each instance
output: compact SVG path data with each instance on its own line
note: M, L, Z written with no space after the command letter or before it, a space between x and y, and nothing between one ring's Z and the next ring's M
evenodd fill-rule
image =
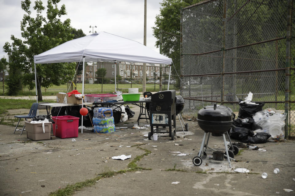
M75 116L53 116L53 135L59 138L77 138L79 118Z

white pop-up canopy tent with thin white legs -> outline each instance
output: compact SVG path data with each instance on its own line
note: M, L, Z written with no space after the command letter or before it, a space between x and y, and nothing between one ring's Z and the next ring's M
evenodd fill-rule
M85 62L142 62L149 64L169 64L172 59L159 54L143 44L116 36L107 32L93 33L89 36L67 41L57 47L34 56L35 83L36 64L58 62L80 62L83 58L82 96L84 96L84 67ZM115 66L116 72L116 66ZM116 81L116 73L115 73ZM116 82L115 82L116 91ZM37 83L36 83L37 99ZM37 100L38 101L38 100ZM83 104L83 103L82 103ZM83 105L82 105L83 107ZM83 118L82 118L83 125ZM83 129L82 129L83 133Z

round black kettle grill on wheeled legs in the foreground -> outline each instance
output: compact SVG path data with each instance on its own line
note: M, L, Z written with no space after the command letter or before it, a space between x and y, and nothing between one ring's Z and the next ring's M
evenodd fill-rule
M230 137L228 134L228 130L230 130L230 127L233 123L233 111L226 106L223 105L209 105L204 107L203 109L199 110L198 112L198 123L199 126L202 130L204 130L204 137L203 137L203 141L201 144L201 148L199 151L198 156L196 156L195 158L193 158L193 164L195 164L196 166L199 166L202 164L202 158L205 159L206 158L206 149L210 149L215 151L215 149L210 148L208 146L208 141L209 141L209 136L210 133L212 134L212 136L222 136L223 137L223 141L224 141L224 146L225 146L225 150L226 150L226 157L229 163L229 166L231 168L230 165L230 159L234 160L234 155L238 154L239 149L237 146L233 145L232 142L230 141ZM228 148L227 144L226 144L226 138L225 138L225 134L227 134L227 137L229 139L230 142L230 147ZM207 142L205 145L205 140L206 137L207 138ZM205 149L204 149L205 147Z

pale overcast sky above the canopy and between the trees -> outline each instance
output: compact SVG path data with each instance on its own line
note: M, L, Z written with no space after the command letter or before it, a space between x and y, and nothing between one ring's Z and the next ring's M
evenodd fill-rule
M35 5L31 0L31 7ZM46 7L47 0L42 0ZM162 0L147 0L147 47L159 52L155 47L156 39L151 27L155 26L155 16L159 14ZM144 0L61 0L59 7L65 4L71 26L82 29L86 35L94 31L108 32L144 43ZM32 12L33 13L33 12ZM0 58L5 42L12 42L10 36L21 37L20 22L25 12L21 9L21 0L0 0ZM35 17L35 15L32 15ZM89 31L91 30L91 33Z

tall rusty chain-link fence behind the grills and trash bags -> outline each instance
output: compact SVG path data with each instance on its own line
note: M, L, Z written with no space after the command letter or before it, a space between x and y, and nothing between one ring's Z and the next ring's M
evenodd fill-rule
M213 103L237 112L238 99L251 91L253 101L266 103L264 108L288 113L285 137L295 136L292 4L292 0L206 0L183 8L183 112L196 116L196 111Z

